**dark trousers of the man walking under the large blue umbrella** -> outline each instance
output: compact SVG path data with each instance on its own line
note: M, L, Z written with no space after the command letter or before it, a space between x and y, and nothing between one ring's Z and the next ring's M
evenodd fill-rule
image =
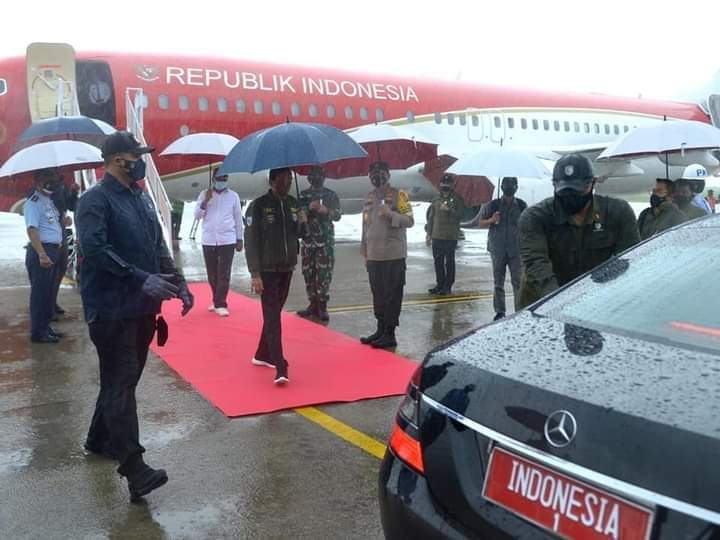
M260 297L263 308L263 329L255 358L270 362L276 367L286 364L282 352L282 308L290 292L292 272L262 272L263 293Z

